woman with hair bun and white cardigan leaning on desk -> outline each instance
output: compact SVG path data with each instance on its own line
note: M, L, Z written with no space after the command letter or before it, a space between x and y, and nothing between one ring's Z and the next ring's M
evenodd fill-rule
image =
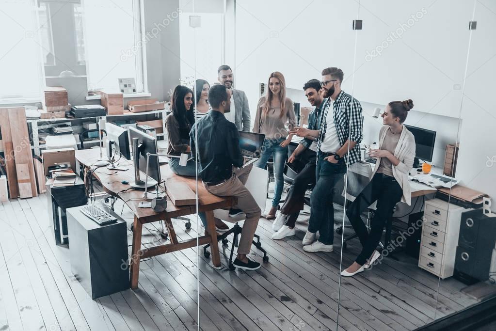
M412 108L412 100L393 101L381 115L384 126L379 132L379 149L369 152L370 157L377 159L372 180L346 211L363 248L355 262L341 273L342 276L353 276L370 268L380 257L375 248L394 206L400 201L410 205L408 174L415 158L415 138L403 122ZM377 207L368 233L360 215L374 201L377 201Z

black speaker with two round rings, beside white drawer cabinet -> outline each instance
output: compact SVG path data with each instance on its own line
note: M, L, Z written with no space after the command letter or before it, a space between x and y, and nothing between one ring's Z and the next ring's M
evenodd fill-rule
M455 277L466 283L489 278L491 257L496 243L496 218L482 210L462 214L456 248Z

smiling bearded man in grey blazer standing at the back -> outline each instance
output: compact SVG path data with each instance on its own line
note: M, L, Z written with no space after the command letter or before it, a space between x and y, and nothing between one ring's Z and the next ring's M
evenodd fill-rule
M226 118L236 124L239 131L249 131L250 117L248 108L248 98L244 91L233 88L234 77L233 70L229 65L223 64L217 69L219 82L231 90L231 110L226 113Z

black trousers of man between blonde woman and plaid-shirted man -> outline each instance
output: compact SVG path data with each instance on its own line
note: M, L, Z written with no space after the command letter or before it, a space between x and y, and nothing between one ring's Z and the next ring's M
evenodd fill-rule
M286 225L294 227L300 211L303 210L305 192L310 184L315 185L315 161L317 155L310 149L306 149L298 156L300 162L304 163L300 172L293 179L293 184L289 188L286 200L281 207L281 213L288 215Z

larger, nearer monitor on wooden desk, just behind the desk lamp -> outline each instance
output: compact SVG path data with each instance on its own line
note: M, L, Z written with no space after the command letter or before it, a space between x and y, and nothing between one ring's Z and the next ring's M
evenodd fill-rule
M149 177L153 178L157 183L160 183L160 166L157 156L155 155L150 156L148 162L148 171L146 169L146 154L147 153L158 154L157 138L154 138L149 134L146 134L145 132L142 132L133 127L129 128L129 138L131 141L133 141L133 138L138 138L138 146L137 146L138 150L137 151L134 150L134 146L133 146L133 151L132 151L133 158L136 161L136 165L138 165L138 169L143 173L148 173ZM153 186L153 185L148 184L148 186ZM142 187L143 188L145 187L144 183Z

